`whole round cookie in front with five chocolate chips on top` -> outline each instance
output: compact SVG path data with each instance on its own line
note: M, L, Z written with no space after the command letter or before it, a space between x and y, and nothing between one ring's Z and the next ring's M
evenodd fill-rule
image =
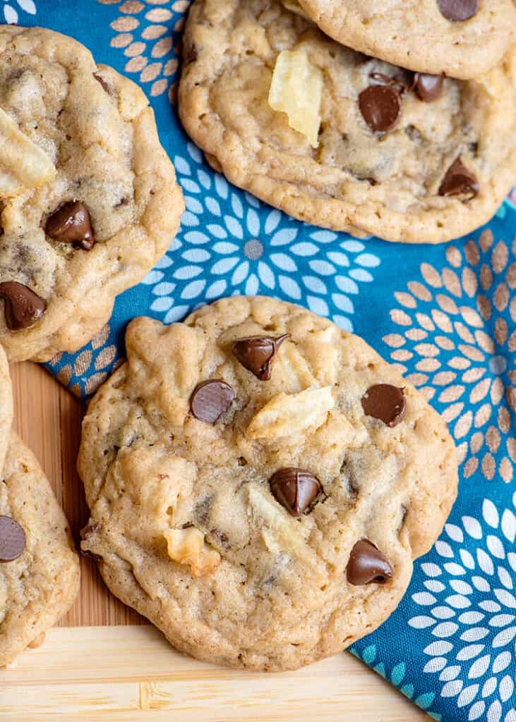
M254 670L374 630L455 500L455 447L423 396L358 336L267 297L137 318L126 348L78 459L82 549L111 591L179 650ZM378 401L391 425L366 415ZM350 561L364 539L372 557Z

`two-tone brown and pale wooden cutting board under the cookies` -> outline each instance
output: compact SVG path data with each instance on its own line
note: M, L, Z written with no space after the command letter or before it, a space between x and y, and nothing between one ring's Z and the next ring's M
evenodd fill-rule
M15 427L69 518L87 521L75 471L81 404L41 367L12 366ZM73 608L45 643L0 671L2 722L421 722L429 718L350 654L251 674L182 656L108 592L82 557Z

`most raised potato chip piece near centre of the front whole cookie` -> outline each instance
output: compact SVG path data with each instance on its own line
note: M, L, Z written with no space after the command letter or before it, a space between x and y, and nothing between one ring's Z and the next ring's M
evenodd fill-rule
M332 387L307 388L300 393L278 393L251 419L250 439L293 436L309 427L319 428L335 406Z

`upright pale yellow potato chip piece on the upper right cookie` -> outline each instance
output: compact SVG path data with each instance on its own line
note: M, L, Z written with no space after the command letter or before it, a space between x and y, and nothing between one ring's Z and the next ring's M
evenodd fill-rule
M270 84L269 105L286 113L288 124L304 134L312 148L319 145L322 70L304 51L281 51Z

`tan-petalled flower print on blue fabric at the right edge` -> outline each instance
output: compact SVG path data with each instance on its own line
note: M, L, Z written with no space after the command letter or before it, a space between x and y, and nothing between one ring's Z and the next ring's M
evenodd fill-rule
M516 238L449 245L395 293L390 357L442 412L463 474L511 482L516 462Z

